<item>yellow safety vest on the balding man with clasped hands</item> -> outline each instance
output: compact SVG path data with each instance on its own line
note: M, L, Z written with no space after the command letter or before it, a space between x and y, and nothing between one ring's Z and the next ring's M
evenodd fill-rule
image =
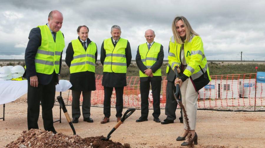
M161 44L156 43L156 42L153 43L153 45L150 47L149 50L148 50L147 43L139 45L139 53L141 56L141 60L147 68L151 68L155 64L157 57L158 57L158 53L160 52L160 47L161 47ZM139 70L139 74L140 74L140 77L148 77L148 75L145 75L141 70ZM155 73L153 73L153 75L162 76L161 68L156 70Z

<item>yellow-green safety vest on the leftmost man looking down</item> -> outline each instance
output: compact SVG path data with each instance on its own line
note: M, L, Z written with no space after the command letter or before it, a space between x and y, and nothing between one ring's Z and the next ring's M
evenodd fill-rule
M64 37L61 31L56 33L54 42L52 33L47 25L38 26L41 30L42 44L35 56L35 67L37 73L52 74L59 73L61 53L64 49Z

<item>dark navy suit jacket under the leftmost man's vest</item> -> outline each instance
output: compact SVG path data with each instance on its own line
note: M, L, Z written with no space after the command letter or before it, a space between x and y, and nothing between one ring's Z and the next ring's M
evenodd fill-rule
M35 55L41 44L42 44L42 35L39 27L31 29L29 33L29 42L25 51L26 71L24 75L28 80L29 77L37 75L39 84L43 85L49 84L53 77L55 78L55 81L59 83L58 74L56 74L55 71L50 75L36 72ZM61 71L61 65L62 65L62 53L60 58L59 73Z

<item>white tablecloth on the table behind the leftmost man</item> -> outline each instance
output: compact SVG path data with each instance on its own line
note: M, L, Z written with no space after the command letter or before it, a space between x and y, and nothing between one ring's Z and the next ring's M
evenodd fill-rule
M72 87L67 80L60 80L56 85L56 91L66 91ZM28 81L0 80L0 104L15 101L28 92Z

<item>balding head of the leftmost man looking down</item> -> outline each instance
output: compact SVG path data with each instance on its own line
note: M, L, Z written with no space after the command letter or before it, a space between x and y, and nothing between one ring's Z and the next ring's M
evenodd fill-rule
M58 10L53 10L49 13L48 24L53 32L58 32L62 27L63 15Z

